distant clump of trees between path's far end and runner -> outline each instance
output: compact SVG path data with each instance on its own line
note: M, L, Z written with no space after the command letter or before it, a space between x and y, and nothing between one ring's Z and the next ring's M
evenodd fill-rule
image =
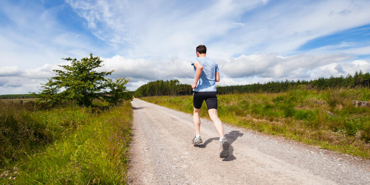
M179 80L157 80L140 86L134 93L135 97L162 95L189 95L193 92L191 85L181 84Z

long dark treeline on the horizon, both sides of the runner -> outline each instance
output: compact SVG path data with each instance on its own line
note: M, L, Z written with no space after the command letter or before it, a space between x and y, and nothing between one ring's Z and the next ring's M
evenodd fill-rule
M356 72L353 76L348 74L346 77L339 76L330 78L320 77L318 79L305 81L276 81L267 83L255 83L249 85L236 85L236 86L218 86L218 94L228 94L234 92L285 92L298 85L306 85L309 89L323 90L327 88L355 88L355 87L370 87L370 74L369 72L363 73L362 71ZM160 96L160 95L191 95L193 92L191 85L180 84L179 80L163 81L157 80L149 82L140 86L133 95L135 97L143 96Z

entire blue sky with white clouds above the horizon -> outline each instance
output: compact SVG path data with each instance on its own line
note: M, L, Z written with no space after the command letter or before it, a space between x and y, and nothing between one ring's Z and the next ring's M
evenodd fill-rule
M61 58L93 53L130 90L191 83L195 47L219 85L370 71L369 0L1 0L0 94L37 92Z

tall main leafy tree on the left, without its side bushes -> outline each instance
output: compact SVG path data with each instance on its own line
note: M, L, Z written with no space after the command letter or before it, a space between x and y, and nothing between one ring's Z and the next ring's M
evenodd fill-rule
M56 76L53 79L56 80L58 87L65 88L65 91L61 92L63 97L67 100L73 100L79 105L89 106L92 104L94 98L98 98L100 92L106 87L107 75L111 72L96 72L95 69L101 67L101 63L98 56L82 58L81 60L72 58L63 58L64 60L71 61L71 65L59 65L63 70L53 70L56 72Z

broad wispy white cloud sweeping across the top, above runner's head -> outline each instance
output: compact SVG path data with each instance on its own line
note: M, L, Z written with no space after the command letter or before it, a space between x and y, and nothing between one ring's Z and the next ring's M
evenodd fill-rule
M124 47L124 55L134 58L188 57L200 43L220 58L284 54L311 39L370 23L370 3L361 0L278 1L272 6L266 0L207 1L199 6L162 0L67 2L92 33ZM249 12L260 6L266 7Z

